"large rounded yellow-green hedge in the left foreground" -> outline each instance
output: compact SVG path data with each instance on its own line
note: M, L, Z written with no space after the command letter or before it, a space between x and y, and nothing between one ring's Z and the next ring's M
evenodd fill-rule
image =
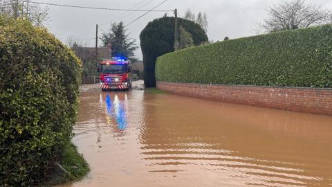
M46 29L0 17L0 186L34 186L64 157L81 69Z

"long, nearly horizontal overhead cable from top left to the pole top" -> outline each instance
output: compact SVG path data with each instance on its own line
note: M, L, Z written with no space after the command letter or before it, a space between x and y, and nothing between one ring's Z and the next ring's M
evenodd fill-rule
M85 8L85 9L94 9L94 10L116 10L116 11L132 11L132 12L172 12L174 10L138 10L138 9L122 9L122 8L100 8L100 7L90 7L90 6L71 6L71 5L64 5L64 4L55 4L55 3L41 3L30 1L30 3L41 4L41 5L48 5L48 6L63 6L63 7L70 7L70 8Z

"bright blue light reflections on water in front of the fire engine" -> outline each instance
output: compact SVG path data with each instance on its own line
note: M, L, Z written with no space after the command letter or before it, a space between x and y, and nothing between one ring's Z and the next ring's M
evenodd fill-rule
M107 114L116 120L116 124L119 130L126 130L127 128L127 114L126 109L124 109L124 103L119 100L118 96L114 96L114 100L112 102L111 96L107 94L106 99L106 108Z

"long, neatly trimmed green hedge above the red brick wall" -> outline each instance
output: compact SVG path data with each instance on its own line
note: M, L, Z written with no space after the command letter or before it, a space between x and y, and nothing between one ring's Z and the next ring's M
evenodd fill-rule
M158 57L156 80L332 87L332 25L232 39Z

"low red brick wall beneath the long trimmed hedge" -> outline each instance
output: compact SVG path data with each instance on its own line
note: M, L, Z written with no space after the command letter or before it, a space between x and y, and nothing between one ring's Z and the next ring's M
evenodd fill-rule
M158 89L225 103L332 116L332 89L157 82Z

